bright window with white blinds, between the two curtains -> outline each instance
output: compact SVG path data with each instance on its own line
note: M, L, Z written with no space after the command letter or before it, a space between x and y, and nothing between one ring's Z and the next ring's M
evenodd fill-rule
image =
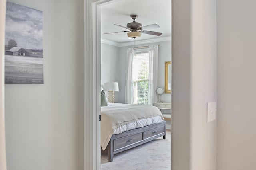
M134 104L148 104L149 56L148 52L133 55L133 101Z

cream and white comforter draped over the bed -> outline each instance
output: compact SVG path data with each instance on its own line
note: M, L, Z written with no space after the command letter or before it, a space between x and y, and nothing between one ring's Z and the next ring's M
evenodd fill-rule
M101 146L105 150L113 134L164 121L161 111L151 105L113 104L101 107Z

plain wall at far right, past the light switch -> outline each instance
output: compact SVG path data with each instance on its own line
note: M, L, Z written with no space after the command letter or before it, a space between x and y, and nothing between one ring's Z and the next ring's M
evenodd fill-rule
M256 167L256 1L217 0L217 170Z

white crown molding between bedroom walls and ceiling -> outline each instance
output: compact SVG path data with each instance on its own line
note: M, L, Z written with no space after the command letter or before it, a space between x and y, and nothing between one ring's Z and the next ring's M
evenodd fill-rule
M136 41L136 45L148 44L148 43L157 43L157 42L161 42L161 41L171 41L171 36ZM126 46L130 46L130 45L134 45L134 41L124 42L124 43L117 43L117 42L110 41L110 40L107 40L107 39L101 39L101 43L108 44L108 45L114 45L116 47L126 47Z

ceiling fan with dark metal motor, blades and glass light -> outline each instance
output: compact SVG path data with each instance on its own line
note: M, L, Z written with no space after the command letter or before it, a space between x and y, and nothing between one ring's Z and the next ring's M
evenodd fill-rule
M140 37L141 33L150 34L150 35L157 35L157 36L162 35L162 33L160 33L160 32L154 32L154 31L146 31L146 30L144 30L144 29L160 28L159 25L157 25L157 24L152 24L152 25L147 25L147 26L142 27L142 24L141 24L141 23L135 22L136 18L138 18L138 15L132 14L132 15L130 15L130 17L133 19L133 22L127 23L126 27L125 27L125 26L122 26L122 25L114 24L114 25L116 25L116 26L129 29L128 31L119 31L119 32L112 32L112 33L128 32L128 33L127 33L128 37L129 37L129 38L133 38L133 39L135 39L135 38L137 38L137 37ZM110 33L104 33L104 34L110 34Z

